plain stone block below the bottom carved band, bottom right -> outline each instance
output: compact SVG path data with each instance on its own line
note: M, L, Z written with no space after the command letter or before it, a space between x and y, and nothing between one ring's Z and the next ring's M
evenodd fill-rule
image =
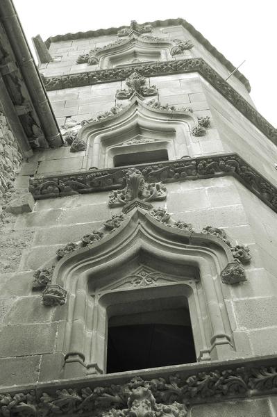
M267 398L233 400L192 406L190 417L274 417Z

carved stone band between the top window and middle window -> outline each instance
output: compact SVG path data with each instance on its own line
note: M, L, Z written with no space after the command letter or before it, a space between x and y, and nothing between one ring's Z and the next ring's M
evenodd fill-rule
M160 76L169 74L183 74L198 72L230 101L238 111L250 120L262 133L277 145L277 129L274 128L265 117L251 106L233 87L230 86L215 70L210 67L202 58L189 58L184 60L172 60L158 63L145 63L139 65L126 65L111 70L98 70L82 72L72 75L60 75L43 77L45 87L48 91L73 88L83 85L93 85L112 81L122 81L130 76L134 70L142 76Z

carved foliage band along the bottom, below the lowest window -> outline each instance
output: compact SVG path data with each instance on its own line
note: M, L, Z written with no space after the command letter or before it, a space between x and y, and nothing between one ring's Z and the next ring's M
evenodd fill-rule
M274 393L276 367L207 370L187 377L171 375L103 387L0 394L1 417L70 415L99 417L185 417L192 404L251 398Z

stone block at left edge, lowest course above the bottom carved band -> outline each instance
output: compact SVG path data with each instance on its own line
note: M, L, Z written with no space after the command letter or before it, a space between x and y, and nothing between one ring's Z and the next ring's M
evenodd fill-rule
M40 356L1 358L0 368L1 386L35 383L40 370Z

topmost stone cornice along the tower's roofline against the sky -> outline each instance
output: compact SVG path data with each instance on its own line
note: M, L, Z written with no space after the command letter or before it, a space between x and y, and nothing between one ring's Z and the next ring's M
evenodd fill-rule
M187 31L191 33L196 40L198 40L205 49L207 49L210 54L215 56L221 62L221 64L225 65L227 70L230 72L233 72L235 70L235 67L228 59L225 58L223 54L221 54L215 47L210 44L210 42L204 38L203 35L199 31L196 31L196 28L192 26L189 22L187 22L185 19L181 19L179 17L178 19L167 19L167 20L156 20L155 22L146 22L142 24L141 26L151 24L153 27L167 27L167 26L183 26ZM87 31L87 32L77 32L77 33L67 33L65 35L56 35L51 36L45 41L45 44L47 44L47 47L50 47L51 42L60 42L60 41L66 41L66 40L76 40L76 39L83 39L83 38L96 38L97 36L103 36L103 35L116 35L117 31L120 29L126 28L126 26L120 26L119 28L108 28L108 29L99 29L97 31ZM250 92L251 87L248 79L240 72L236 71L234 76L239 79L246 87L246 89Z

